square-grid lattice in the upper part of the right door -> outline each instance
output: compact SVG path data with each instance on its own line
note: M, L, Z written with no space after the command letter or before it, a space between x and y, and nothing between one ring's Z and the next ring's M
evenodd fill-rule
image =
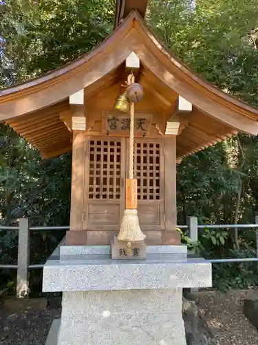
M160 200L160 144L136 142L135 155L138 200Z

